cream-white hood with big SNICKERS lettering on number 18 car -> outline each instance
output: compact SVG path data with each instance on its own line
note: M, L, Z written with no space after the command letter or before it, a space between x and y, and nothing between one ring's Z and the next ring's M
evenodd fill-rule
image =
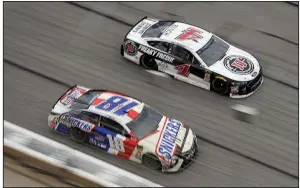
M147 139L155 149L154 152L161 159L170 159L176 153L184 153L192 148L194 133L182 122L162 118L156 134Z

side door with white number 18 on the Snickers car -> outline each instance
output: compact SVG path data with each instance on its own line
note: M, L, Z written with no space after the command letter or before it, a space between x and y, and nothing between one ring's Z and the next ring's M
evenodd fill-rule
M99 147L105 149L108 153L129 158L137 144L137 139L130 135L124 127L118 122L101 117L99 126L96 128L93 138ZM92 142L93 139L91 140Z

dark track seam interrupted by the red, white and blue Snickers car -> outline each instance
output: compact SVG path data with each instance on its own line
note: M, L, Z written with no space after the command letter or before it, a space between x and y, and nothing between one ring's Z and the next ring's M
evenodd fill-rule
M74 84L68 84L68 83L66 83L66 82L62 82L62 81L60 81L60 80L57 80L57 79L52 78L52 77L50 77L50 76L47 76L47 75L45 75L45 74L39 73L39 72L37 72L37 71L35 71L35 70L32 70L32 69L30 69L30 68L28 68L28 67L19 65L19 64L15 63L15 62L10 61L10 60L7 60L7 59L5 59L5 58L3 59L3 62L4 62L4 63L8 63L8 64L10 64L10 65L13 65L13 66L15 66L15 67L17 67L17 68L19 68L19 69L21 69L21 70L23 70L23 71L30 72L30 73L32 73L32 74L34 74L34 75L40 76L40 77L42 77L42 78L44 78L44 79L50 80L50 81L52 81L52 82L54 82L54 83L57 83L57 84L60 84L60 85L66 86L66 87L71 87L71 86L74 85ZM289 173L289 172L286 172L286 171L284 171L284 170L281 170L281 169L279 169L279 168L277 168L277 167L275 167L275 166L269 165L269 164L267 164L267 163L265 163L265 162L263 162L263 161L260 161L260 160L258 160L258 159L255 159L255 158L253 158L253 157L247 156L247 155L243 154L242 152L239 152L239 151L237 151L237 150L234 150L234 149L231 149L231 148L229 148L229 147L223 146L222 144L219 144L219 143L214 142L214 141L212 141L212 140L210 140L210 139L204 138L203 136L200 136L200 135L196 135L196 136L197 136L197 138L199 138L200 140L203 140L203 141L205 141L205 142L207 142L207 143L209 143L209 144L212 144L212 145L217 146L217 147L219 147L219 148L225 149L225 150L227 150L227 151L229 151L229 152L232 152L232 153L234 153L234 154L236 154L236 155L239 155L239 156L241 156L241 157L244 157L244 158L246 158L246 159L248 159L248 160L251 160L251 161L253 161L253 162L256 162L256 163L258 163L258 164L260 164L260 165L262 165L262 166L265 166L265 167L267 167L267 168L270 168L270 169L275 170L275 171L277 171L277 172L280 172L280 173L282 173L282 174L288 175L288 176L290 176L290 177L292 177L292 178L298 179L298 176L297 176L297 175L294 175L294 174L292 174L292 173Z

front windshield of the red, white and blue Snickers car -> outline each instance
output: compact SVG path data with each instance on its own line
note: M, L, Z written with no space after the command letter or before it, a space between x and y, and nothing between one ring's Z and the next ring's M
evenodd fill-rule
M163 115L155 111L150 106L145 105L140 115L127 124L128 128L138 139L155 131Z

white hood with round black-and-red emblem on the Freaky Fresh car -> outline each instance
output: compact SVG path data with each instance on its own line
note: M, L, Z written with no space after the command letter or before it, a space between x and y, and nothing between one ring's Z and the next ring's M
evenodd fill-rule
M234 81L250 81L258 75L260 65L251 54L230 46L226 55L208 69Z

